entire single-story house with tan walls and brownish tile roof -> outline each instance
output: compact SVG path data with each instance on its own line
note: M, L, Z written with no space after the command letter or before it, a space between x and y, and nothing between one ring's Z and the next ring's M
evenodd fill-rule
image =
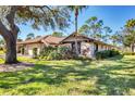
M85 55L88 58L95 58L95 52L102 50L119 49L118 47L105 43L102 41L89 38L81 34L71 34L65 38L44 36L35 39L29 39L25 41L17 42L17 51L22 54L27 54L33 56L33 50L37 50L37 54L40 53L41 49L48 46L58 47L66 46L72 52L75 52L75 41L77 41L77 48L79 55Z

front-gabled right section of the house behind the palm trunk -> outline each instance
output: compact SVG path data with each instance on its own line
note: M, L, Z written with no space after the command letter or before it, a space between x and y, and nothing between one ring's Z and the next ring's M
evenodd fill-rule
M75 52L75 41L78 45L79 55L88 58L94 58L97 51L119 49L118 47L75 33L64 38L60 43L70 43L72 51Z

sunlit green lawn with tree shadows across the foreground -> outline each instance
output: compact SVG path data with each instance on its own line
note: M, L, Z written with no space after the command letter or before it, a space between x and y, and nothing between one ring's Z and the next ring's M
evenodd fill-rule
M20 60L36 66L0 73L0 94L135 96L135 56L93 62Z

